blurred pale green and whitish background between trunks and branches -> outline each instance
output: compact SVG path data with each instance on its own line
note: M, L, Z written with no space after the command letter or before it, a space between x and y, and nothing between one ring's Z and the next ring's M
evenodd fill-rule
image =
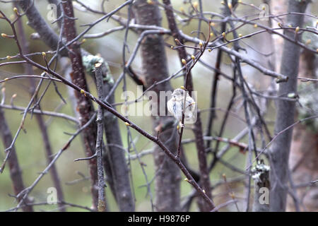
M106 11L112 11L114 8L117 8L120 4L124 1L105 1L105 8ZM210 1L210 0L202 0L204 11L211 11L220 13L220 8L223 6L220 4L220 1ZM248 3L254 4L254 6L259 6L263 3L263 1L249 1ZM85 4L88 4L91 8L100 9L101 1L92 1L88 0L85 1ZM47 1L35 1L35 5L39 9L40 13L42 14L43 18L47 20L47 23L51 23L48 20L49 18L49 11ZM74 5L74 13L76 18L76 29L77 32L80 33L85 27L81 27L81 24L90 23L92 21L97 20L100 16L87 12L85 8L81 7L76 1L73 1ZM184 4L182 0L172 0L172 5L174 8L179 10L180 8L187 8L189 3ZM7 16L11 16L13 18L13 5L12 4L4 4L0 2L1 11L4 11ZM244 16L247 13L259 13L259 11L247 6L238 6L236 11L236 16ZM310 4L310 13L312 15L317 15L318 13L318 2L314 1ZM126 16L126 8L122 8L122 10L117 13L118 15L122 15L123 17ZM167 28L167 19L163 10L161 10L161 15L163 16L163 24L164 28ZM23 20L23 27L25 29L26 37L30 37L30 35L35 32L32 28L27 25L28 19L24 16ZM260 23L267 23L267 21L260 21ZM117 22L110 19L104 20L102 23L95 25L89 33L99 33L104 32L105 30L109 30L110 28L117 27ZM58 30L57 23L51 24L54 30ZM179 28L186 33L187 35L196 36L196 34L192 34L193 30L197 30L197 21L192 20L189 24L182 25L179 24ZM218 28L218 24L216 25ZM254 32L257 28L254 28L252 25L244 26L237 30L242 35L247 35L251 32ZM201 28L204 34L208 34L208 26L206 23L202 25ZM11 34L11 28L4 20L0 20L0 32ZM114 76L114 80L117 80L120 73L122 73L122 45L124 41L124 32L125 30L120 30L117 32L112 32L110 35L106 35L105 37L101 37L98 39L86 39L86 42L81 45L84 49L87 49L92 54L100 54L107 63L110 65L110 70L112 75ZM177 56L177 51L175 49L170 49L170 45L175 45L174 39L170 36L165 36L165 42L167 43L167 48L165 49L167 52L167 59L168 59L168 66L169 66L169 73L175 73L177 70L180 69L179 64L179 57ZM129 45L129 49L134 49L134 45L136 44L136 40L138 36L134 32L129 32L127 44ZM232 39L232 36L229 35L229 40ZM41 40L30 40L28 38L28 42L30 45L30 52L45 52L48 51L49 48L41 41ZM245 54L249 59L253 59L257 61L259 64L266 65L269 61L268 57L264 56L264 54L271 54L271 38L269 33L263 32L259 35L254 35L249 37L246 40L240 42L243 48L246 49L246 52L242 51L242 54ZM232 44L228 45L229 47ZM257 49L255 51L254 49ZM192 49L188 50L189 53L192 53ZM260 54L264 53L264 54ZM13 56L18 53L18 49L16 47L16 43L13 42L11 39L6 39L0 37L0 57L6 57L7 55ZM213 52L206 52L204 53L203 57L201 58L202 61L206 62L206 64L215 65L216 64L216 51ZM128 54L129 56L129 54ZM42 64L42 57L34 57L35 61L40 62ZM132 68L137 72L141 73L141 56L140 52L134 63L132 64ZM230 58L227 54L223 54L222 64L220 69L223 73L228 74L229 76L232 74L232 66ZM1 66L0 68L0 80L4 78L14 76L20 73L23 73L23 66L20 64L13 64L8 66ZM61 71L60 66L57 68L57 72ZM42 71L39 69L35 69L35 73L40 75ZM257 90L265 90L270 82L271 78L269 76L263 76L257 69L248 66L247 64L242 64L242 73L244 74L247 81L253 85L254 88ZM208 120L208 111L204 111L204 109L208 109L210 107L210 94L211 94L211 87L213 82L213 72L206 69L206 67L202 64L196 64L194 69L192 70L193 75L193 82L194 82L194 90L197 93L197 105L198 108L201 109L201 121L203 124L204 131L206 130L206 124ZM95 90L95 83L93 79L87 75L87 80L90 88L90 92L93 95L97 95ZM44 81L44 84L47 84L48 81ZM180 85L183 85L183 78L174 78L171 80L173 88L179 88ZM69 95L66 85L62 83L57 83L60 93L65 98L66 102L68 103L65 105L60 97L54 90L54 86L50 85L47 94L42 100L42 109L47 111L57 111L62 112L65 114L69 114L73 116L73 109L69 104ZM20 78L6 82L5 84L1 84L6 88L6 103L9 104L10 98L12 95L16 94L14 98L14 105L16 106L25 106L25 103L29 102L30 95L29 95L29 82L28 78ZM119 85L115 92L115 102L122 102L121 99L122 95L122 83ZM40 93L45 88L45 85L42 86ZM232 85L230 82L224 78L220 78L219 81L219 88L218 88L218 96L217 96L217 107L222 109L226 109L228 106L228 102L230 101L231 97L231 89ZM134 81L128 76L127 77L127 90L131 90L132 92L137 92L137 85ZM317 94L317 93L316 93ZM97 105L95 105L95 109L97 109ZM117 107L119 110L120 107ZM244 118L244 109L239 105L235 105L234 110L237 109L237 116L230 115L228 119L227 126L225 127L225 133L223 137L225 138L233 138L237 135L242 129L245 128L245 123L240 120L240 117ZM10 126L11 132L14 134L18 129L20 124L20 119L22 117L20 111L12 110L12 109L4 109L6 119ZM212 134L216 134L216 131L220 129L221 121L218 119L222 119L225 112L216 111L216 121L213 127ZM271 102L269 105L269 109L264 117L268 122L268 126L270 131L273 131L273 121L275 119L275 105L274 102ZM57 152L69 139L69 135L66 133L73 133L76 131L76 125L70 121L66 121L65 119L59 119L55 117L48 117L44 116L45 123L47 124L47 129L49 132L49 141L52 145L52 150L54 153ZM152 126L151 126L151 117L129 117L131 121L134 121L137 125L139 125L142 129L152 133ZM1 122L0 122L1 123ZM122 135L122 141L124 147L127 148L127 133L126 133L126 126L122 121L119 121L119 126ZM35 117L30 117L30 114L27 116L25 121L24 131L20 133L18 136L18 140L16 141L16 153L18 155L18 160L20 162L20 167L23 170L23 180L25 186L28 186L32 183L39 172L47 166L47 160L45 160L45 151L43 148L43 141L41 138L41 131L37 126L35 121ZM65 133L66 132L66 133ZM146 150L151 149L153 147L153 143L148 141L146 138L141 136L134 130L131 130L132 137L134 138L134 143L136 143L137 150ZM184 131L183 139L187 138L194 138L194 134L192 131L186 129ZM259 137L257 138L260 141ZM248 138L242 139L243 143L248 143ZM226 145L226 143L220 143L220 147ZM0 160L4 160L4 144L0 140ZM196 157L196 148L195 143L189 143L184 145L184 153L186 153L189 165L196 170L199 169L198 160ZM59 172L59 177L62 183L62 188L64 191L64 198L69 203L80 203L81 206L91 206L91 194L90 194L90 182L89 182L89 173L86 161L79 161L74 162L76 158L85 157L84 150L83 150L83 143L81 142L81 136L76 137L76 139L71 143L71 146L68 150L65 151L59 158L56 163L57 170ZM233 146L223 157L223 160L226 162L231 162L232 165L235 167L244 169L247 161L247 153L238 151L238 148ZM153 191L154 180L155 177L155 169L153 167L153 155L146 155L142 157L142 162L145 166L146 173L148 179L152 182L151 189ZM208 155L208 162L211 161L211 156ZM151 210L151 203L150 203L150 196L147 194L147 189L145 181L145 177L143 175L142 169L139 165L137 160L131 160L131 165L129 166L131 169L131 178L132 178L132 185L134 196L136 196L136 211L149 211ZM235 179L241 177L242 174L240 172L235 172L226 167L225 165L221 164L220 162L217 163L216 168L213 169L212 173L210 174L211 185L215 186L216 188L213 190L213 201L215 203L223 203L224 201L228 200L229 193L227 186L217 186L220 182L223 182L223 174L226 175L228 180ZM192 191L191 184L187 182L181 182L181 197L186 196ZM73 183L74 181L78 180L79 182ZM236 194L236 198L240 200L240 198L245 198L244 194L244 185L245 181L240 182L233 182L230 183L230 188L232 192ZM49 175L45 175L35 186L35 189L30 194L30 197L34 197L37 202L46 201L47 200L47 189L49 187L54 186L52 184L52 179ZM111 211L117 211L117 205L114 201L114 197L110 192L110 189L107 187L106 191L106 199L108 203L108 208ZM13 194L12 183L9 177L8 168L4 170L4 172L0 175L0 210L7 210L16 206L15 198L9 196L9 194ZM153 191L153 194L154 191ZM243 208L240 201L237 203L239 208ZM243 205L243 204L242 204ZM57 205L47 205L47 206L35 206L35 210L57 210ZM67 207L69 211L81 211L82 209L74 208L74 207ZM190 210L196 211L195 203L192 204L192 208ZM230 211L236 210L234 205L230 205L226 208L223 208L222 211Z

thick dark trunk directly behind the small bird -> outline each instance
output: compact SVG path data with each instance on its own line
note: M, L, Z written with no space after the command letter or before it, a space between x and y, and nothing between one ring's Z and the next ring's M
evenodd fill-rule
M141 25L161 25L161 15L157 4L148 4L146 0L137 0L134 3L134 15L136 21ZM143 74L146 77L146 86L150 86L155 81L167 78L167 57L165 54L165 44L161 35L148 35L141 44L141 59ZM170 83L162 83L155 86L153 91L158 94L160 91L172 90ZM158 98L159 106L160 98ZM160 125L160 140L167 148L176 153L177 136L174 136L175 128L172 127L171 117L153 117L153 129ZM155 207L158 211L178 211L180 208L180 172L172 160L170 160L163 150L155 147Z

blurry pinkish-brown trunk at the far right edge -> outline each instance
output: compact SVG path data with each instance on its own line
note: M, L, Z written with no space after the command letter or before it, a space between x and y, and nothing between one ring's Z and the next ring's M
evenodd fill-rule
M315 71L318 69L318 59L314 54L304 51L300 57L300 74L306 75L307 78L317 78ZM318 93L318 86L314 83L302 84L305 86L312 85L313 90L305 89L300 93L300 99L306 98L313 93ZM311 99L317 101L317 97ZM317 103L316 103L317 104ZM303 106L307 107L307 106ZM317 120L317 119L314 119ZM318 128L314 128L314 123L309 122L311 126L298 124L293 131L293 142L290 148L290 171L295 186L295 195L300 210L318 211L318 188L312 186L312 182L318 179ZM310 128L311 127L311 128ZM297 186L300 185L298 188ZM305 185L305 186L301 186ZM297 202L297 201L296 201ZM295 199L288 197L288 211L295 211Z

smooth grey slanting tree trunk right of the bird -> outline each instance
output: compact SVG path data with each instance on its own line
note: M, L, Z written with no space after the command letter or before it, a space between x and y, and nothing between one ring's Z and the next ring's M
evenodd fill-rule
M288 12L304 13L309 1L288 1ZM301 27L303 16L288 15L286 24ZM295 38L295 32L285 30L285 35ZM296 35L298 36L298 35ZM300 38L300 37L298 37ZM281 60L281 73L288 76L288 82L279 85L278 96L287 96L288 93L297 93L297 76L300 59L300 47L284 40L283 57ZM295 102L277 100L275 133L283 131L294 122ZM285 211L288 193L288 158L293 129L289 129L278 136L271 146L271 195L270 210Z

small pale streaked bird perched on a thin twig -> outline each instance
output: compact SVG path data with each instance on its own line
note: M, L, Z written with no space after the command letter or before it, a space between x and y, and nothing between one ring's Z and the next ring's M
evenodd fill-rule
M185 108L184 96L186 95ZM194 117L194 109L196 102L190 97L186 90L177 88L172 93L172 98L167 102L168 111L179 121L179 125L184 127L182 124L182 112L184 113L184 120L191 120Z

